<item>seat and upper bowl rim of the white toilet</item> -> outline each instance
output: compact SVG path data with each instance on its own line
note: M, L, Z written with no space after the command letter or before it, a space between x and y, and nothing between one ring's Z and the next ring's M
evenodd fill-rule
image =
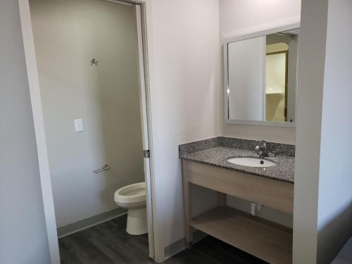
M146 201L146 183L139 182L118 189L115 191L114 200L117 203L139 203Z

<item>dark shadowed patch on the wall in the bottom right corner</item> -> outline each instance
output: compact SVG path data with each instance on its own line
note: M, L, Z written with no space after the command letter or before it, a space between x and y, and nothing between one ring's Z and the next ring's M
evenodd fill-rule
M352 200L344 210L318 232L317 263L331 263L352 237Z

